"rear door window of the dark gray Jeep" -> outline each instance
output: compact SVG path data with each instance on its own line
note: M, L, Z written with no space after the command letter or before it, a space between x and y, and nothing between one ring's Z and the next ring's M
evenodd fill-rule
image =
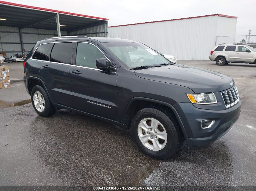
M50 61L68 64L71 45L72 43L55 43L52 48Z

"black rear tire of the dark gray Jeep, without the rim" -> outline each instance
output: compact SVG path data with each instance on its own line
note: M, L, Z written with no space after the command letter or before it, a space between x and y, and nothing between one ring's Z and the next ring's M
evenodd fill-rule
M33 100L33 96L35 94L36 91L39 91L44 100L45 100L45 103L44 103L44 110L42 112L38 111L37 108L35 107L35 103L34 103L34 100ZM50 102L46 92L45 92L45 89L42 87L42 86L39 86L39 85L36 85L32 91L31 91L31 101L32 101L32 105L36 111L36 113L42 117L48 117L48 116L52 116L55 112L56 112L56 108L52 105L52 103Z

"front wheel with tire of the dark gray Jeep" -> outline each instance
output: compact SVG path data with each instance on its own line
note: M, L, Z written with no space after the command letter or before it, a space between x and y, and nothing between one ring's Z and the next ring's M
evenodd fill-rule
M138 111L131 128L138 148L152 158L170 158L182 145L178 124L160 108L144 108Z

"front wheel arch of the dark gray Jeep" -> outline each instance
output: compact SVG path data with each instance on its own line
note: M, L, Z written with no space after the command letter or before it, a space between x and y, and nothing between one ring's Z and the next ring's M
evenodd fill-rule
M133 116L138 110L144 107L150 107L150 106L158 107L162 110L165 110L169 114L173 114L179 126L181 127L184 137L188 137L185 127L181 121L181 118L178 112L175 110L175 108L170 103L166 103L160 100L154 100L151 98L145 98L145 97L132 98L125 109L125 114L124 114L122 123L123 124L131 123Z

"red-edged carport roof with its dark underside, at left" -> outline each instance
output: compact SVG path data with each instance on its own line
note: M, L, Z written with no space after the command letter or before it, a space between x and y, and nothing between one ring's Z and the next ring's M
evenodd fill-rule
M53 9L21 5L0 1L0 25L19 28L38 28L56 30L55 15L59 14L61 30L75 31L83 27L95 26L108 21L107 18L94 17L83 14L57 11Z

